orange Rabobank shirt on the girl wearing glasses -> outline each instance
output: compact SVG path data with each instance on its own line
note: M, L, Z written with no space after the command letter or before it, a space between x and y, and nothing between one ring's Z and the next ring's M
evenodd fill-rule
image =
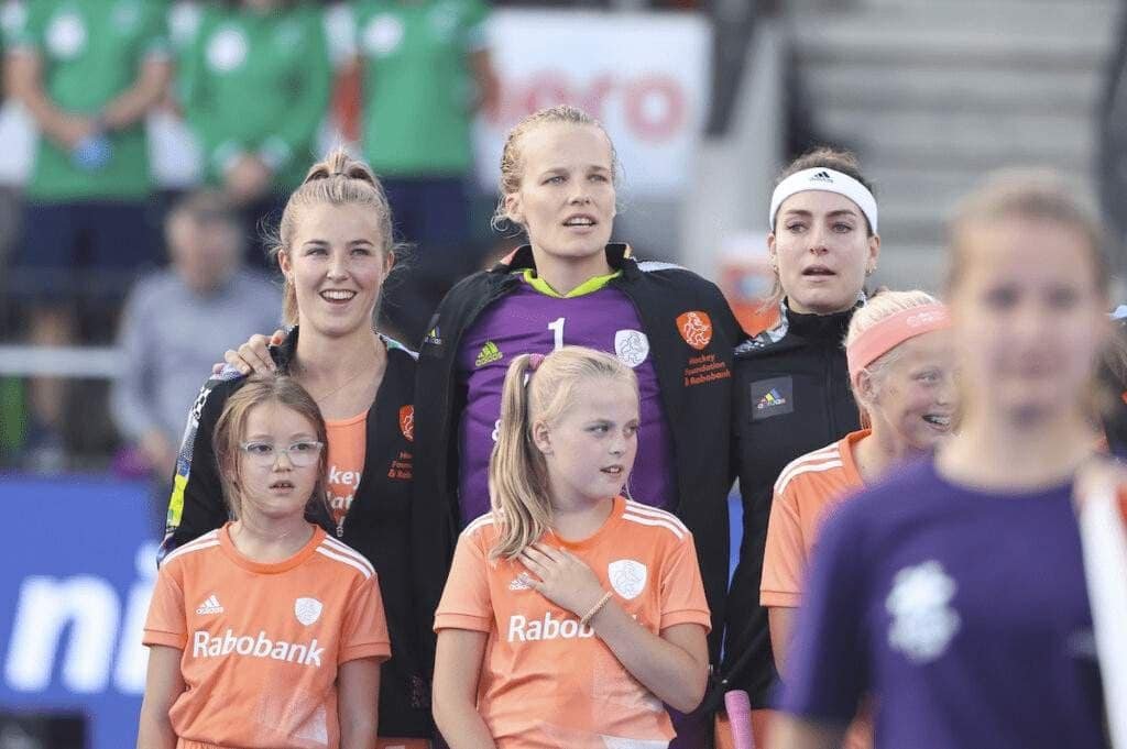
M147 645L184 650L178 748L337 747L337 667L391 653L375 571L320 528L290 559L254 562L230 528L165 558L145 622Z

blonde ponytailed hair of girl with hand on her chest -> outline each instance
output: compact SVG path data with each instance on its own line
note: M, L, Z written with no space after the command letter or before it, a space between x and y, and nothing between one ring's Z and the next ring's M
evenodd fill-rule
M638 378L629 366L582 346L513 359L502 391L497 445L489 458L489 502L499 530L492 559L512 559L551 526L548 464L533 440L536 422L556 422L574 403L579 383L594 377L629 383L638 398Z

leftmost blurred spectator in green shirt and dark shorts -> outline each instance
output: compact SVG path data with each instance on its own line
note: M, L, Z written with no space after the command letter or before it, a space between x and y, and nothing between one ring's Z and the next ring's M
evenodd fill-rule
M8 291L29 307L30 341L63 346L77 337L79 292L96 309L115 306L128 275L157 253L142 121L171 73L167 5L34 0L15 8L5 80L39 140ZM29 395L29 447L38 448L35 460L56 463L65 386L38 378Z

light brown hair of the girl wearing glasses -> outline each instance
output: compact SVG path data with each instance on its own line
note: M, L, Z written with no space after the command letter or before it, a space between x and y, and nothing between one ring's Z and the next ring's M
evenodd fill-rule
M220 467L220 484L230 516L234 519L242 516L242 462L239 460L239 443L245 438L250 409L266 403L276 403L291 409L313 425L317 440L325 447L321 448L317 463L317 483L313 484L313 492L309 496L305 508L308 510L320 503L328 512L325 476L328 474L329 437L321 410L313 396L293 377L282 374L256 374L227 399L223 412L220 413L215 430L212 433L212 449L215 453L215 463Z

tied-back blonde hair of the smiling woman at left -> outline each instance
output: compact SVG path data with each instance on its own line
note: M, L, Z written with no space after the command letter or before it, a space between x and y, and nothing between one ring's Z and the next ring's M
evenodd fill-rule
M344 149L335 149L310 168L305 180L286 202L277 233L269 238L270 259L275 264L278 253L289 255L293 249L293 237L298 231L298 222L301 221L301 209L310 205L325 204L370 207L380 226L376 246L381 255L384 258L394 255L391 206L388 204L383 185L366 163L353 159ZM289 278L282 286L282 315L287 326L298 324L298 293Z

